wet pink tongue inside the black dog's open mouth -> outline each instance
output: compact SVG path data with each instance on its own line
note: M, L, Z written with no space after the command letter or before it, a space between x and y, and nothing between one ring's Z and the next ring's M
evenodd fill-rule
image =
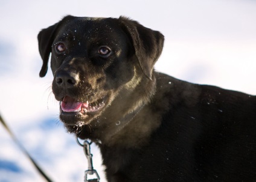
M62 107L62 111L64 112L78 112L81 110L82 102L76 102L69 96L65 96L60 106Z

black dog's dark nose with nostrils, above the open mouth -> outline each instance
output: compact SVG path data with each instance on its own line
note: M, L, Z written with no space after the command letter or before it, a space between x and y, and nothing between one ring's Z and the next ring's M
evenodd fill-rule
M63 88L71 88L78 82L78 75L74 73L68 73L66 71L59 71L56 74L55 81L58 86Z

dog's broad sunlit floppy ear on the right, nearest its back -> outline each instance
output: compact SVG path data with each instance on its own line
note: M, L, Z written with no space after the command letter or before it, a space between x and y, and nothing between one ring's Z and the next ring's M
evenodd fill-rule
M143 73L152 79L153 67L164 46L164 35L126 17L121 16L119 20L121 28L132 38L135 54Z

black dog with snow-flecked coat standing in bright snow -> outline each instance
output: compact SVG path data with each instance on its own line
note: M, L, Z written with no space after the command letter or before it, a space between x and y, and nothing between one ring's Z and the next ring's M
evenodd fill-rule
M60 120L100 147L108 181L256 181L256 97L156 73L160 32L66 16L38 40Z

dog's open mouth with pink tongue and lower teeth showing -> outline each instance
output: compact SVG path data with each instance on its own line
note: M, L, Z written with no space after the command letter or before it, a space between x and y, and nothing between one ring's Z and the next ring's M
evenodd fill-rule
M66 113L80 113L82 115L94 114L104 108L106 97L101 97L96 102L78 102L72 97L65 96L60 102L60 107Z

